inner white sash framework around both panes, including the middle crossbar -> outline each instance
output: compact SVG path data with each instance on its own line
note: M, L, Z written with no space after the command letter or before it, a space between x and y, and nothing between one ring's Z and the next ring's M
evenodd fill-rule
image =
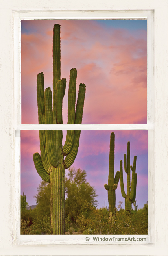
M34 18L35 17L35 18ZM15 139L16 139L16 152L18 153L18 159L16 159L16 175L18 173L18 169L20 170L20 168L18 168L18 162L20 162L20 130L148 130L148 144L152 145L153 143L153 130L154 130L154 112L153 112L153 101L154 101L154 93L153 93L153 82L154 82L154 76L152 74L152 70L154 67L154 63L152 60L152 51L151 49L153 48L153 43L154 43L154 37L153 37L153 11L124 11L124 12L109 12L109 11L102 11L99 13L90 13L85 11L85 13L83 13L83 15L79 16L78 11L77 12L66 12L66 13L44 13L44 15L41 15L41 13L33 13L33 17L32 15L30 15L30 13L15 13L14 15L14 26L17 26L17 28L19 28L19 32L20 32L20 27L21 27L21 20L23 19L27 19L27 20L31 20L31 19L55 19L55 17L57 17L57 19L89 19L89 20L96 20L96 19L139 19L139 20L147 20L147 26L148 26L148 33L147 33L147 38L148 38L148 43L147 43L147 59L148 59L148 67L147 67L147 74L148 74L148 85L147 85L147 124L78 124L78 125L67 125L67 124L62 124L62 125L55 125L55 124L21 124L21 102L20 102L20 93L21 93L21 81L17 81L16 85L15 85L15 96L17 97L15 102L19 103L18 106L15 106L16 112L16 120L18 121L18 123L16 124L16 128L17 130L15 130ZM56 22L56 20L55 20ZM14 43L15 43L15 49L18 49L18 54L16 56L16 58L14 59L14 61L16 61L16 64L19 63L19 65L21 65L20 61L19 61L19 56L20 56L20 40L21 40L21 33L19 33L19 38L16 38ZM152 46L152 47L151 47ZM18 57L18 58L17 58ZM14 64L14 67L17 67L17 65ZM18 68L15 70L14 69L14 74L16 77L18 77L17 80L20 79L20 72L18 72ZM17 87L17 85L19 85ZM152 147L153 148L153 145ZM152 177L151 172L153 170L153 168L151 168L151 163L153 163L153 151L151 150L151 148L149 148L148 150L148 159L150 159L149 161L149 166L148 166L148 175ZM151 163L150 163L151 162ZM18 178L18 177L17 177ZM153 180L151 179L149 182L149 198L148 198L148 208L149 208L149 217L148 217L148 235L145 236L139 236L140 238L145 238L146 239L146 243L151 243L152 241L154 241L154 229L153 229L153 215L151 214L154 211L153 208L153 195L151 193L152 188L151 186L153 186ZM17 200L18 195L16 195L16 200ZM16 216L16 220L17 223L20 224L20 211L18 211L17 216ZM16 243L21 244L21 245L25 245L25 244L68 244L68 243L73 243L73 244L96 244L96 243L102 243L104 244L104 241L93 241L92 236L88 236L90 238L90 241L86 241L86 237L87 236L81 236L81 235L76 235L76 236L69 236L69 235L61 235L61 236L53 236L53 235L43 235L43 236L35 236L35 235L20 235L20 225L17 226L17 230L15 231L15 234L17 232L17 237L18 237L18 241L16 241ZM100 236L99 236L100 237ZM103 237L103 235L102 235ZM115 235L115 238L117 238L118 236ZM120 236L123 237L123 236ZM124 236L125 238L128 238L130 236ZM131 238L133 238L133 235L131 236ZM107 242L106 242L107 243ZM110 243L110 242L109 242ZM113 243L128 243L127 241L113 241ZM135 242L131 242L131 243L135 243Z

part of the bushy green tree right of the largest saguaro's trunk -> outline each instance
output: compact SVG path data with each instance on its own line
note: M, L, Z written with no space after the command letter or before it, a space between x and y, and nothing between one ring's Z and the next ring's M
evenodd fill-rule
M87 217L88 203L92 206L97 206L98 203L95 199L98 196L96 190L87 182L86 176L85 170L70 167L65 177L65 214L70 216L73 223L76 222L79 214Z

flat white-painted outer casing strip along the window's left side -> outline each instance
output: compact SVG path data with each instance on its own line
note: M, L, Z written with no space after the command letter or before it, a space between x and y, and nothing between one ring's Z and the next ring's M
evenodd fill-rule
M0 246L12 245L13 38L12 12L0 10Z

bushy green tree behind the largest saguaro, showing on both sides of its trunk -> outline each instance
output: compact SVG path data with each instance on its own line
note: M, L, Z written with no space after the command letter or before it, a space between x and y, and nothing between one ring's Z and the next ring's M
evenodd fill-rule
M87 217L89 208L86 207L86 202L97 206L96 190L87 182L86 176L84 170L71 167L65 177L65 214L69 215L72 222L76 221L81 213ZM37 202L35 210L38 218L50 216L50 183L41 181L37 191L34 197Z

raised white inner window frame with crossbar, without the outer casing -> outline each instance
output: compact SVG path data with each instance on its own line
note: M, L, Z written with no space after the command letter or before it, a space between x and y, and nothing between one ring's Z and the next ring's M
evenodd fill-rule
M155 211L153 189L154 189L154 24L153 24L153 11L94 11L93 13L84 11L79 14L78 11L55 11L53 13L14 13L14 76L15 76L15 178L17 184L20 184L20 130L148 130L148 235L142 237L147 238L147 243L155 241L155 225L154 215L151 214ZM147 19L147 124L21 124L21 20L22 19ZM18 68L19 67L19 68ZM19 195L19 196L18 196ZM15 193L15 219L14 223L14 245L28 245L28 244L62 244L67 235L20 235L20 185ZM150 213L150 214L149 214ZM104 235L103 235L104 236ZM106 235L105 235L106 236ZM130 237L130 236L129 236ZM72 239L68 236L69 239ZM81 237L79 237L81 238ZM78 239L79 239L78 238ZM66 237L67 239L67 237ZM79 243L79 240L73 237L68 243ZM88 244L84 239L80 241L82 244ZM114 243L114 242L113 242ZM128 243L128 242L126 242ZM95 244L95 243L94 243ZM139 245L140 246L140 245Z

